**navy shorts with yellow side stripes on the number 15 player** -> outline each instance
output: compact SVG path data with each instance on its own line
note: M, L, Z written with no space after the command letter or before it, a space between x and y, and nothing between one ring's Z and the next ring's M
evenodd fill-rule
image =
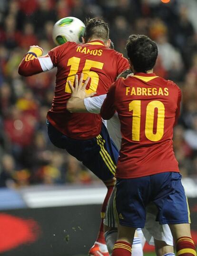
M92 139L72 139L59 132L49 122L47 125L49 139L54 146L66 149L102 181L114 177L119 152L104 124L100 134Z

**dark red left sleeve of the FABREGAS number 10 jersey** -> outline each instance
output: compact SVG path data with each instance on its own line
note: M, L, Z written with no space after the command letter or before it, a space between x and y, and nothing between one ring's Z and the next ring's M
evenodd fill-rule
M115 107L116 83L117 82L113 83L109 88L107 96L100 109L100 115L105 120L110 119L116 111L116 107Z

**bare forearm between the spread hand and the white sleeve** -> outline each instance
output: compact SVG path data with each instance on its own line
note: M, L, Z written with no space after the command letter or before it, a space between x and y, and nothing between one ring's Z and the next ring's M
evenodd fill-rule
M67 102L67 110L70 113L86 113L88 112L88 110L86 109L85 105L84 105L84 99L80 99L77 97L71 97L69 98L68 102Z

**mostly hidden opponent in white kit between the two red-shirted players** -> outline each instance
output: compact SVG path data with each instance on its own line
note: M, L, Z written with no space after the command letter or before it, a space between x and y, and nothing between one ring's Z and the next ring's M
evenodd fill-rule
M123 74L118 77L126 77L130 74L130 71L123 72ZM130 74L131 75L131 74ZM78 78L76 79L75 88L69 82L70 89L72 91L72 96L67 103L67 109L70 112L90 112L99 114L100 108L103 104L103 101L106 95L100 95L95 97L88 97L86 94L85 88L88 84L88 81L82 85L83 75L80 77L79 85ZM121 145L121 133L120 133L120 122L118 115L115 114L110 120L107 121L107 128L110 137L113 139L114 143L120 149ZM113 193L108 202L108 209L106 212L106 217L104 224L107 227L106 232L106 244L108 246L109 253L112 252L113 245L117 238L117 222L115 219L115 214L113 213ZM145 228L142 230L143 234L149 245L155 245L155 251L157 256L175 256L173 248L173 237L170 231L170 228L167 224L160 225L156 222L157 208L154 204L148 205L147 209L147 219ZM137 230L138 236L143 240L142 235L140 234L140 229ZM143 243L143 241L142 241ZM134 240L135 245L135 240ZM135 254L135 250L132 247L132 256L138 256Z

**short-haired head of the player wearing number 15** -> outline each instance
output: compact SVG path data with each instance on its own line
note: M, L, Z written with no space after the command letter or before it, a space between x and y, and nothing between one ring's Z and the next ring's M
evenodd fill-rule
M93 37L100 38L104 42L109 39L109 27L105 21L99 18L87 19L85 25L84 39L86 42Z

